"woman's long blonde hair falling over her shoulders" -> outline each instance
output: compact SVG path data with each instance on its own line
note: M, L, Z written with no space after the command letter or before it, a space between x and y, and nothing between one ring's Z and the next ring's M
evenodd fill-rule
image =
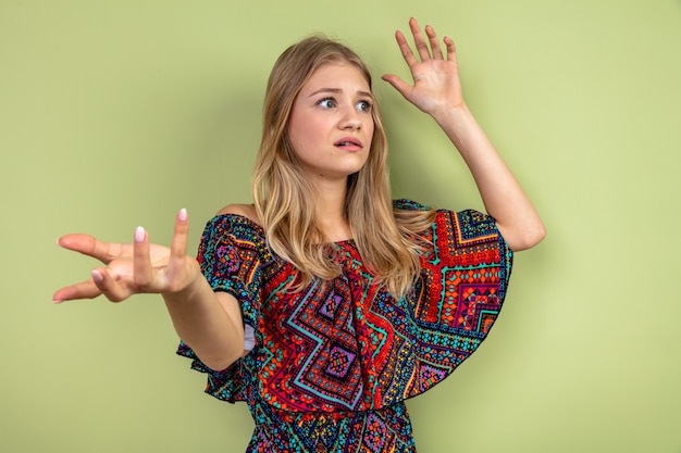
M302 172L288 138L294 101L320 66L347 62L371 88L371 74L361 58L332 39L312 36L286 49L274 64L265 91L262 140L256 161L252 191L258 217L270 248L298 270L297 289L314 278L340 274L333 249L319 227L313 187ZM396 211L389 192L387 140L379 108L372 106L374 131L364 166L348 177L345 216L364 266L374 281L395 298L411 288L420 272L421 243L417 234L428 228L432 211ZM308 202L306 202L308 201Z

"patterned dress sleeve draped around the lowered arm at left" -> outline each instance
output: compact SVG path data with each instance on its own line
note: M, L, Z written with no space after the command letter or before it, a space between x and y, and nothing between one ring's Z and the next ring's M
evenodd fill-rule
M262 344L258 328L262 297L262 251L265 250L260 227L246 217L220 215L206 225L197 261L214 291L225 291L240 303L244 324L255 332L255 348ZM237 360L223 370L214 370L184 341L177 354L191 358L191 368L208 375L206 393L230 402L245 400L252 379L251 355Z

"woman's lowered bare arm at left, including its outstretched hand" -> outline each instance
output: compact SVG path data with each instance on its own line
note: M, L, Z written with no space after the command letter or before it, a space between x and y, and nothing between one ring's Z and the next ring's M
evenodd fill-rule
M187 256L189 224L186 211L175 217L169 248L149 243L144 228L134 242L102 242L88 235L66 235L59 244L101 261L89 280L57 291L57 303L103 294L121 302L136 293L160 293L175 330L212 369L224 369L244 354L244 326L237 300L213 292L198 262Z

